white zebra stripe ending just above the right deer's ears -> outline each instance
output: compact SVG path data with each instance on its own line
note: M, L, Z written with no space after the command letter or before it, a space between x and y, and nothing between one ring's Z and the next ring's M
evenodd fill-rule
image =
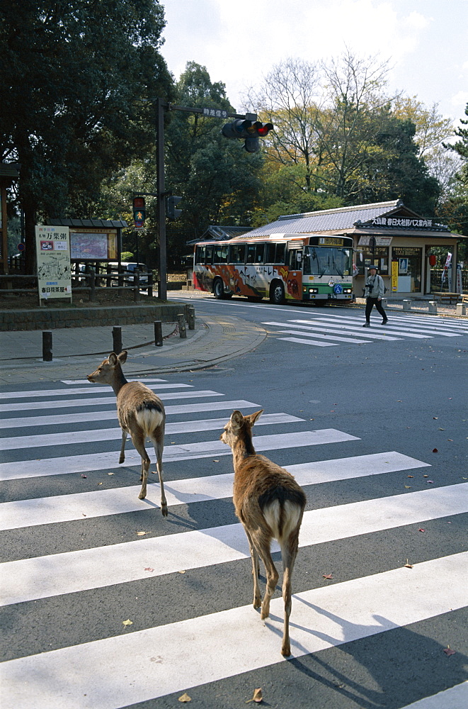
M177 413L200 413L201 411L229 411L243 408L261 408L259 403L245 399L232 399L231 401L207 401L206 403L172 404L165 406L166 415ZM4 418L1 428L23 428L27 426L54 426L57 424L86 423L87 421L114 420L118 425L117 410L113 411L81 411L80 413L63 413L48 416L23 416L22 418Z

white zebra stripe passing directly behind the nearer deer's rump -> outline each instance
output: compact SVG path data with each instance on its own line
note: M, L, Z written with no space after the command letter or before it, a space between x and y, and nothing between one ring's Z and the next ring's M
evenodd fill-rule
M468 483L304 513L299 547L394 529L468 511ZM274 543L273 550L279 547ZM76 593L249 557L240 524L0 565L1 605ZM148 568L154 571L147 571ZM466 603L466 598L465 598Z

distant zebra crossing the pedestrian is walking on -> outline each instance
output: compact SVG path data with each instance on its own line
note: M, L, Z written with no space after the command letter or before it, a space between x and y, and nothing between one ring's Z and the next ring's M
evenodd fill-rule
M307 318L293 318L285 322L270 320L262 325L275 328L273 332L279 340L312 347L338 347L343 343L369 345L377 341L427 340L433 337L468 335L467 320L399 313L389 315L387 325L381 325L380 318L377 320L374 316L371 327L364 331L362 315L333 313L327 313L326 316L308 314Z

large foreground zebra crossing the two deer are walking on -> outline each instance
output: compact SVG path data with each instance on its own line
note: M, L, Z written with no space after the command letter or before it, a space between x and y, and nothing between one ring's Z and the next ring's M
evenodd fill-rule
M313 658L317 668L330 671L337 649L353 654L372 636L391 656L396 632L406 632L410 643L423 637L425 623L458 618L467 604L468 552L462 545L443 554L428 547L409 566L406 559L386 563L379 549L406 539L410 554L408 537L418 530L431 523L455 527L468 512L468 483L428 485L425 460L395 450L359 453L353 447L363 441L355 435L314 430L302 418L268 411L258 420L256 450L285 464L309 501L293 578L293 659L285 661L280 593L266 621L249 604L249 547L229 501L231 452L219 441L234 408L249 413L261 402L187 382L144 381L167 412L167 520L159 513L157 484L149 485L146 500L137 497L139 457L130 445L125 464L118 465L120 428L107 387L67 380L50 389L0 393L0 532L6 540L0 613L8 630L2 706L118 709L143 703L146 709L169 705L182 693L205 706L243 705L261 681L281 676L295 683L295 662ZM337 446L341 454L335 457ZM292 451L296 462L288 464ZM408 485L409 477L419 487ZM385 491L385 481L396 479L401 490ZM353 498L349 489L327 503L319 494L321 486L345 491L348 484L367 484L376 494ZM343 573L326 580L340 555ZM372 568L366 555L375 557ZM362 570L352 563L356 557ZM329 559L329 566L317 566L319 559ZM434 644L441 662L454 660L450 681L442 671L428 691L412 688L398 700L389 696L378 660L366 669L369 688L349 681L345 691L338 670L334 681L325 682L316 669L309 675L311 696L318 692L310 705L320 706L320 692L327 691L326 705L340 709L462 709L466 657L447 657L444 646ZM361 701L371 694L373 703ZM217 699L224 695L227 703Z

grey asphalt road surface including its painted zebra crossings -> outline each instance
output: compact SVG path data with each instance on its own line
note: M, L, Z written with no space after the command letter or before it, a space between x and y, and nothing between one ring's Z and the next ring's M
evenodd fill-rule
M156 482L137 499L130 443L118 465L110 388L0 390L5 707L162 709L186 693L231 709L261 687L275 709L465 708L467 321L375 314L362 330L351 308L196 308L268 337L147 380L168 413L167 520ZM218 440L233 408L264 409L256 450L307 494L288 660L280 588L268 622L250 605Z

